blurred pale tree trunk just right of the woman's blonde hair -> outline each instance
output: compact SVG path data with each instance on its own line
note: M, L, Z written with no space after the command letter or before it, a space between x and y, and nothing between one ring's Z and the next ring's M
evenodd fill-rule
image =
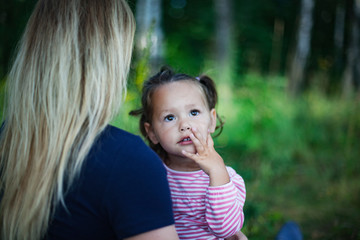
M148 59L151 70L157 71L163 58L161 0L138 0L136 4L136 52L139 59Z

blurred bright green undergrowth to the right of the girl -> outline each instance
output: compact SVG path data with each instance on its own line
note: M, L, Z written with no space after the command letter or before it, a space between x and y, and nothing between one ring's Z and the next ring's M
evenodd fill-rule
M305 239L359 239L360 105L317 91L289 99L284 86L245 77L217 140L247 184L244 231L269 239L292 219Z

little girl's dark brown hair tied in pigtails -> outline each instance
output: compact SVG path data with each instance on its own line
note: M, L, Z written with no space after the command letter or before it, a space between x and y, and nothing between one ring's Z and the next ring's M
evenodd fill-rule
M154 76L150 77L148 80L144 82L142 89L142 97L141 97L141 108L137 110L131 111L129 114L131 116L139 116L140 122L139 127L141 134L149 141L150 147L163 159L166 160L167 153L161 147L160 144L153 144L147 136L144 123L148 122L150 124L152 120L152 95L155 90L161 85L177 82L177 81L192 81L195 84L198 84L203 90L206 96L206 102L209 106L209 110L215 108L216 103L218 101L217 91L215 82L206 75L200 75L199 77L192 77L183 73L175 73L171 68L167 66L163 66L160 69L160 72L156 73ZM218 114L216 114L217 120L219 124L216 126L216 130L219 129L218 133L215 137L219 136L223 130L224 121L220 118Z

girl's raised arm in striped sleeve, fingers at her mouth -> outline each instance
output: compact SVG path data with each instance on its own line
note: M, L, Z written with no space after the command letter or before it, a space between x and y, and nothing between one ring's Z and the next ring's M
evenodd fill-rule
M192 129L190 135L196 153L183 154L194 160L209 175L210 184L206 196L206 220L214 235L230 237L238 232L244 222L245 184L241 176L229 168L214 149L214 142L208 133L206 138ZM231 181L230 181L231 176Z

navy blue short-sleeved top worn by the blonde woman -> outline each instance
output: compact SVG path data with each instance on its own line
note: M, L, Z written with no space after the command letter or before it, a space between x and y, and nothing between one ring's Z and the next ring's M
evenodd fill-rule
M109 126L46 239L122 239L174 224L166 171L140 137Z

